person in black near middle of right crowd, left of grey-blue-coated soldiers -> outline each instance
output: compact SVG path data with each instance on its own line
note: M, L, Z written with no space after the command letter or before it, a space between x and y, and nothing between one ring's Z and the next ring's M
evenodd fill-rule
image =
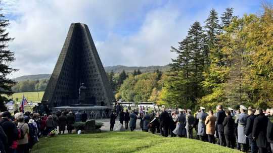
M161 135L168 137L168 128L170 125L170 117L169 113L164 108L162 113L160 114L160 129L161 129ZM162 130L163 128L163 130Z

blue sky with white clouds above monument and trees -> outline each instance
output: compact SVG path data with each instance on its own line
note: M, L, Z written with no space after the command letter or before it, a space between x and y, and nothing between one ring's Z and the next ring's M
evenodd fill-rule
M167 65L190 26L204 21L213 8L220 16L225 8L234 15L261 12L261 1L165 1L165 0L2 0L2 13L10 20L8 32L15 39L10 75L51 74L69 26L89 27L104 66Z

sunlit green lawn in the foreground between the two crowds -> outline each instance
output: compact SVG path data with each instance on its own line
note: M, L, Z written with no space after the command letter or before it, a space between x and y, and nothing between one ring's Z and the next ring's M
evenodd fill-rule
M146 132L65 134L41 138L33 153L43 152L240 152L187 138L171 138Z

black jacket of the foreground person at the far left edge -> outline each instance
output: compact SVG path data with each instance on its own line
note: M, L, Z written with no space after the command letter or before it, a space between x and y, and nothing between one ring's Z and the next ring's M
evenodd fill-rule
M8 119L3 118L0 122L5 134L8 137L8 147L12 145L12 142L18 139L18 129L17 126Z

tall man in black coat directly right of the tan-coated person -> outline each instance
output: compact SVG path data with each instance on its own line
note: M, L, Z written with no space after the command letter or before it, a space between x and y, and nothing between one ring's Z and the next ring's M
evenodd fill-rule
M216 116L216 125L217 131L219 134L219 141L221 146L225 146L225 138L224 138L224 129L223 129L223 120L225 118L225 112L223 111L223 107L218 105L218 112Z

